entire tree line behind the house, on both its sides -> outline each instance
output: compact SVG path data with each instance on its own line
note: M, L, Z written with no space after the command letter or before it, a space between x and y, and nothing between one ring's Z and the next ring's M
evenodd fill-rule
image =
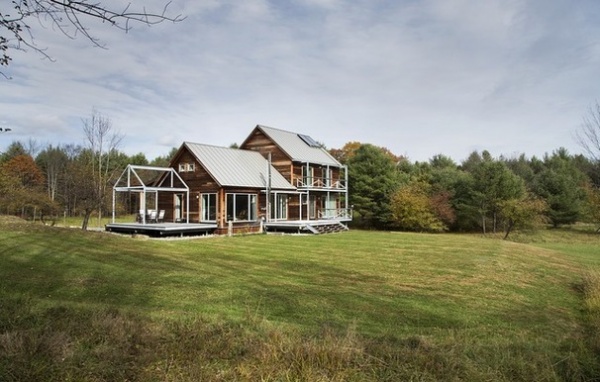
M50 224L59 216L80 216L87 229L93 213L112 211L112 186L128 164L165 167L177 151L152 160L141 152L130 156L119 150L123 136L110 118L93 111L82 122L84 145L16 141L0 153L0 213ZM443 154L411 162L361 142L329 152L348 165L357 227L508 237L514 229L540 224L600 226L600 161L594 150L584 156L559 148L543 158L475 151L461 163ZM126 203L118 206L121 212L131 210Z

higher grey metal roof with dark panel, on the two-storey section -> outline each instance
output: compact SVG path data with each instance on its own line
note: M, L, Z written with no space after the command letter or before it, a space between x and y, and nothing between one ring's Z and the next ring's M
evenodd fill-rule
M327 150L314 145L313 143L315 141L307 135L264 125L257 125L256 129L259 129L271 138L271 140L283 150L293 162L310 162L335 167L342 166L342 164L332 157Z

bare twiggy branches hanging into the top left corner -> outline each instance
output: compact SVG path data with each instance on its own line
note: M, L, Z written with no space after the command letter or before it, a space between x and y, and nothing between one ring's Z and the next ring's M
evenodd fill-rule
M113 3L118 4L118 3ZM146 25L159 24L164 21L179 22L181 15L169 16L166 3L160 12L147 12L145 8L134 9L131 3L124 5L104 5L95 0L12 0L0 8L0 66L8 66L12 60L9 50L29 48L49 58L43 48L35 43L34 28L31 20L38 25L47 25L59 30L68 38L84 36L92 44L103 47L94 37L88 25L92 20L100 20L125 32L133 23ZM1 73L1 72L0 72Z

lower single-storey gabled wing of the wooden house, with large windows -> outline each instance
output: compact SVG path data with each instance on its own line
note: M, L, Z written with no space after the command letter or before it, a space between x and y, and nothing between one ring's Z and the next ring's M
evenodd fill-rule
M185 142L170 167L190 189L189 209L183 193L158 196L165 221L216 223L216 233L260 229L266 220L267 191L293 193L292 186L260 153Z

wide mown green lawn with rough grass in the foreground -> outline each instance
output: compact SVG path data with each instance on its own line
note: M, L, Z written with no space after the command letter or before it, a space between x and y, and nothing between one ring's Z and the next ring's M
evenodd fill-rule
M0 217L0 381L591 381L600 235L144 240Z

